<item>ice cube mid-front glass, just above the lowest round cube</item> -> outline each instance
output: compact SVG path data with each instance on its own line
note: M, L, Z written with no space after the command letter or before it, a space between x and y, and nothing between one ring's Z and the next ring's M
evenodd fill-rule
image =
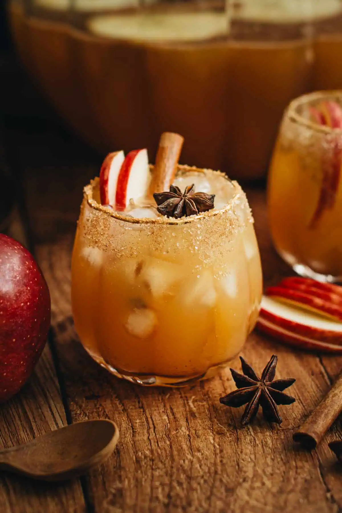
M139 279L147 285L154 298L160 298L171 293L172 286L182 280L180 269L177 264L150 257L144 262Z

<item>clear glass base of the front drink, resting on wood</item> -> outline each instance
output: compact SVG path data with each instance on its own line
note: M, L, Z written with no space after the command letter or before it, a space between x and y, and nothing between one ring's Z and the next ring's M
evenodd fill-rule
M168 387L181 387L192 385L196 381L206 380L213 378L217 373L218 369L227 367L228 361L224 363L220 363L218 365L213 365L203 374L198 374L197 376L155 376L154 374L129 374L125 373L122 370L114 369L110 364L106 363L103 358L99 358L95 356L93 353L88 351L91 358L95 360L101 367L109 370L111 374L114 374L117 378L124 379L134 383L135 385L144 385L144 386L168 386ZM230 358L229 361L232 359Z

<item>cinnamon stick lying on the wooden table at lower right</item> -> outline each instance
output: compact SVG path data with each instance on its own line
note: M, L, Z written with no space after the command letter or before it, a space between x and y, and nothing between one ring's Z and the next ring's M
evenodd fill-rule
M332 423L342 412L342 372L327 396L314 409L310 417L293 433L293 441L308 449L315 449Z

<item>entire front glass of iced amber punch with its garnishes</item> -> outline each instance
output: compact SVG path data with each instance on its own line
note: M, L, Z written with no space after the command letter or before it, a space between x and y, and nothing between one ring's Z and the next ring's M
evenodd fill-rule
M223 173L178 165L182 145L164 133L155 166L145 149L120 169L106 157L84 188L75 236L78 336L100 365L142 385L181 386L226 366L261 299L245 193Z

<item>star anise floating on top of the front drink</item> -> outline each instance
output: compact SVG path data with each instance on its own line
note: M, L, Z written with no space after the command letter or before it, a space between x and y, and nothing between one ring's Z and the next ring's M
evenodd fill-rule
M170 185L170 191L155 192L153 198L160 214L179 219L214 208L215 194L195 192L194 184L188 185L184 193L176 185Z

